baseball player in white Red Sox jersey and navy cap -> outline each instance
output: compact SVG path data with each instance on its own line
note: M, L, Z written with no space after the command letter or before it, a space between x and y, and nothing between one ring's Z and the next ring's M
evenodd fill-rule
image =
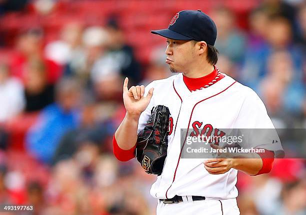
M176 73L166 79L127 87L126 115L113 137L113 152L121 161L135 157L137 133L156 105L169 108L167 156L150 194L160 214L239 214L235 187L237 170L249 175L270 171L273 152L246 158L181 159L180 129L194 135L217 128L274 128L257 94L215 66L216 26L201 10L174 15L167 29L153 30L166 39L165 63ZM260 145L260 143L258 143Z

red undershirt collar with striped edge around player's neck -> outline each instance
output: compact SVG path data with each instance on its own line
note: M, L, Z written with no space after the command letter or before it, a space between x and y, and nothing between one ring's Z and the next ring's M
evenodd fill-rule
M183 75L183 81L190 91L206 88L224 77L214 65L214 70L203 77L191 78Z

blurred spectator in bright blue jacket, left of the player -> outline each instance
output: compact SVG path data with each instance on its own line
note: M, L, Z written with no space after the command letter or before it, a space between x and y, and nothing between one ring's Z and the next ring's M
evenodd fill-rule
M78 126L80 99L78 83L63 79L56 86L56 101L46 106L26 136L28 152L50 163L62 135Z

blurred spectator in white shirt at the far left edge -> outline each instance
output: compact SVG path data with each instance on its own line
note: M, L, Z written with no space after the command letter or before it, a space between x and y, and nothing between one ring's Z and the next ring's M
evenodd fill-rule
M9 68L0 64L0 124L18 114L24 107L23 86L10 76Z

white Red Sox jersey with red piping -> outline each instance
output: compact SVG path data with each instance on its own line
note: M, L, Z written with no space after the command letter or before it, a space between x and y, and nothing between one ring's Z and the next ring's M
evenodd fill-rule
M209 174L203 165L205 159L180 158L181 128L274 127L257 94L223 75L209 87L192 92L183 82L182 73L152 81L146 86L145 93L151 87L154 87L154 91L150 103L140 115L138 132L143 129L152 107L158 104L169 108L171 126L162 174L157 176L150 189L153 197L198 195L229 199L237 196L236 169L223 174Z

